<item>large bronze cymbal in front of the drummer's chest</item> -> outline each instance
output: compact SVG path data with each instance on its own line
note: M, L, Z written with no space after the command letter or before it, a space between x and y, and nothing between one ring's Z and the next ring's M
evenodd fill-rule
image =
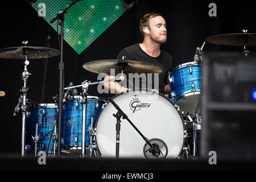
M115 70L115 74L123 73L161 73L162 69L154 64L145 63L142 61L134 60L122 60L122 59L112 59L112 60L97 60L90 61L82 65L82 67L93 73L106 73L110 75L110 69Z

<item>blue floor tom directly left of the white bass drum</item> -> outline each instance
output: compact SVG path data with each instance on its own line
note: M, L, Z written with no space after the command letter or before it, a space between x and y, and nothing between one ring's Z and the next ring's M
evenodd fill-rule
M88 96L86 107L86 147L90 144L89 127L93 119L93 129L98 115L105 104L105 100L98 97ZM82 97L73 96L63 106L63 116L61 121L61 151L66 153L80 153L82 147Z

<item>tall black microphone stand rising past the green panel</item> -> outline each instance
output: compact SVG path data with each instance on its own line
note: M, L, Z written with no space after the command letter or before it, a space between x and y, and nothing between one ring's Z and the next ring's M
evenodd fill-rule
M61 10L57 13L57 16L53 18L50 23L55 22L56 19L60 20L61 30L60 30L60 63L59 63L59 70L60 70L60 87L59 87L59 122L58 122L58 135L57 135L57 156L60 157L61 151L61 117L62 117L62 94L63 94L63 82L64 82L64 62L63 62L63 40L64 40L64 14L68 13L68 9L71 8L75 3L79 2L80 0L73 1L70 5L68 5L64 10ZM58 30L57 30L58 31ZM59 33L59 32L57 32Z

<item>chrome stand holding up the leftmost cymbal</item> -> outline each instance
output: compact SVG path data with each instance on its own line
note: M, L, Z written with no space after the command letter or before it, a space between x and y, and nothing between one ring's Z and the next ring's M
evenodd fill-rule
M23 44L27 44L27 42L23 42ZM23 80L23 87L22 89L20 90L20 92L22 93L23 95L23 101L22 101L22 148L21 148L21 155L22 157L24 157L25 155L25 152L26 152L26 147L25 147L25 142L26 142L26 137L25 137L25 129L26 129L26 116L27 116L27 110L28 110L28 106L27 106L27 103L26 103L26 98L27 98L27 79L28 79L28 76L31 75L31 73L28 73L27 71L27 66L30 64L30 61L27 60L27 53L25 50L23 50L23 54L25 55L26 57L26 60L24 61L24 71L22 73L22 80Z

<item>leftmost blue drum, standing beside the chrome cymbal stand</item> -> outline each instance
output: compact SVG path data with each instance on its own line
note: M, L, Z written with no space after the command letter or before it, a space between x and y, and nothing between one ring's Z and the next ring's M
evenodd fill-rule
M57 129L57 105L37 104L28 109L26 119L26 152L56 152L55 128ZM36 125L38 125L38 142L35 143ZM34 139L33 139L34 138ZM36 148L35 148L36 147Z

